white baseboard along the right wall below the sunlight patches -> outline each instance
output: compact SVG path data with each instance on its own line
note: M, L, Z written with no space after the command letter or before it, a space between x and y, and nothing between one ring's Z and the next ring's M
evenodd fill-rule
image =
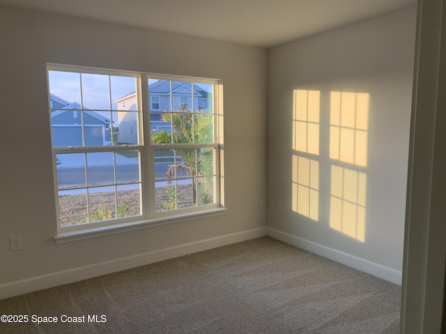
M348 267L364 271L365 273L369 273L378 278L383 278L383 280L388 280L389 282L401 285L403 273L396 269L362 259L361 257L357 257L355 255L341 252L340 250L334 248L317 244L316 242L309 241L307 239L296 237L293 234L275 230L274 228L268 228L268 236L284 241L286 244L291 244L298 248L302 248L303 250L307 250L310 253L321 255L322 257L330 260L345 264Z

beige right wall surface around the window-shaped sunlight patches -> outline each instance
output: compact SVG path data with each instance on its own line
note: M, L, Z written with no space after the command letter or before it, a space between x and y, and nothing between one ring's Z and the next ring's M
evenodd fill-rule
M268 226L401 271L416 9L270 49ZM321 91L318 221L293 212L293 90ZM330 228L330 92L369 93L364 241ZM302 155L302 154L301 154ZM305 154L303 154L305 155ZM341 164L341 166L347 166Z

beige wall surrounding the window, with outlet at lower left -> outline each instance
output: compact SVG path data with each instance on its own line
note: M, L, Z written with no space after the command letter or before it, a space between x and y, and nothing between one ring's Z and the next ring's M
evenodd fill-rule
M0 284L266 226L265 49L1 6L0 43ZM227 214L56 245L45 63L222 79Z

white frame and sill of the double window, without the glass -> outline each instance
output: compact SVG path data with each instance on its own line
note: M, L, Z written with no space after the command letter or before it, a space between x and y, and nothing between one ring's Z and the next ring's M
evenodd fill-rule
M124 72L119 70L106 70L94 67L77 67L72 65L47 64L47 71L63 71L63 72L77 72L77 73L93 73L93 74L107 74L107 75L128 75L137 78L137 93L139 93L139 100L137 101L140 112L139 117L139 144L137 145L105 145L105 146L83 146L77 148L53 148L53 170L54 170L54 194L56 197L56 217L57 217L57 234L54 237L57 244L76 241L79 239L89 239L92 237L100 237L107 234L115 234L118 232L127 232L129 230L137 230L141 228L148 228L159 225L166 225L169 223L178 223L182 221L189 221L196 218L205 218L208 216L217 216L226 213L226 208L222 206L222 199L220 198L220 144L219 138L222 134L219 133L222 127L218 122L222 116L222 103L218 100L219 92L222 90L222 83L218 79L203 79L194 77L178 77L171 75L151 74L144 72ZM190 144L162 144L154 145L151 143L151 128L150 128L150 113L148 109L149 95L148 93L148 78L157 78L170 81L190 81L201 84L213 85L213 143L190 143ZM49 86L48 86L49 92ZM48 93L49 98L49 93ZM51 112L51 108L50 108ZM50 120L51 122L51 120ZM50 123L50 133L51 123ZM179 145L179 146L178 146ZM154 152L160 149L176 148L213 148L214 150L214 193L213 203L207 205L197 205L195 207L185 207L182 209L174 209L165 212L155 211L155 168L154 168ZM140 157L140 182L141 182L141 215L131 216L125 218L114 218L112 220L79 223L77 225L61 226L59 214L59 189L57 182L56 171L56 154L70 153L70 152L120 152L120 151L138 151Z

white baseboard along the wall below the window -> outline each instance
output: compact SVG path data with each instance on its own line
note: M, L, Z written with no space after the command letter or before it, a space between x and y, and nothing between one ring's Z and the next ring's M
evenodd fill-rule
M169 260L174 257L187 254L197 253L201 250L208 250L211 248L235 244L236 242L240 241L264 237L266 236L266 232L266 227L256 228L253 230L226 234L220 237L194 241L189 244L182 244L178 246L162 248L159 250L152 250L147 253L121 257L118 259L95 264L89 264L88 266L84 267L56 271L54 273L47 273L41 276L3 283L0 284L0 299L6 299L9 297L18 296L20 294L26 294L28 292L73 283L79 280L86 280L88 278L106 275L107 273L114 273L116 271L123 271L126 269L141 267L146 264Z

